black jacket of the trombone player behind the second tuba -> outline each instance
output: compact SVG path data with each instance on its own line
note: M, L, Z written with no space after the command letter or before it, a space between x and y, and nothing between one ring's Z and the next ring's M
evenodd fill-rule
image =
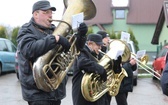
M137 65L132 66L129 62L126 62L123 64L123 68L126 70L128 77L123 78L120 85L119 93L132 92L133 91L133 71L136 70Z

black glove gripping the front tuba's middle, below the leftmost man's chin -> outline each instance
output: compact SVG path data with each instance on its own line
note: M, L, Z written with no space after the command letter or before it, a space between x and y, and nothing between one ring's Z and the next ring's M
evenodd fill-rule
M65 53L69 51L69 48L71 47L71 44L69 43L68 39L63 36L59 36L59 40L57 43L62 45Z

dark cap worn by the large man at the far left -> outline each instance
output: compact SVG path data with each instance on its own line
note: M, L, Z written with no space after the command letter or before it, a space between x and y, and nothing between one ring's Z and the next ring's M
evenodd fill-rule
M41 0L41 1L38 1L38 2L34 3L32 13L36 10L48 10L48 9L51 9L52 11L56 11L55 7L50 6L49 1Z

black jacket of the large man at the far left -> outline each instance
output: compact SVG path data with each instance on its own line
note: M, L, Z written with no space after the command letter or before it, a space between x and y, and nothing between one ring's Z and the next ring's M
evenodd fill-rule
M38 57L57 45L55 37L52 35L54 29L54 25L51 28L45 28L36 24L32 18L19 30L17 37L19 78L22 95L26 101L58 100L65 97L65 80L55 91L44 92L36 87L30 66L30 62L33 64Z

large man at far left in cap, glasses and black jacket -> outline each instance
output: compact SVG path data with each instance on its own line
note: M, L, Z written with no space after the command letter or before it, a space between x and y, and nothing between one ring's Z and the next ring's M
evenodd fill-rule
M31 20L20 28L17 36L19 80L23 99L29 105L60 105L66 94L66 77L59 87L51 92L37 88L33 78L32 64L38 57L57 45L62 46L65 53L69 52L71 46L64 36L52 35L56 28L50 21L53 11L56 11L56 8L51 7L49 1L41 0L34 3ZM87 31L86 27L85 24L80 25L79 31ZM78 44L83 40L80 34L83 33L78 32L77 39L80 39Z

